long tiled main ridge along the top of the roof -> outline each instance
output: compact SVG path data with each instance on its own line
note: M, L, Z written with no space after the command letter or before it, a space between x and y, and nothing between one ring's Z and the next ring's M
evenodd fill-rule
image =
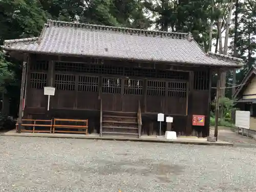
M81 27L81 28L88 28L88 29L101 29L104 31L126 31L130 33L144 33L145 35L152 34L152 35L161 35L161 36L171 36L171 37L178 37L178 38L186 38L190 39L193 38L191 33L179 33L179 32L166 32L166 31L156 31L156 30L145 30L145 29L135 29L135 28L125 28L125 27L113 27L113 26L103 26L103 25L95 25L89 23L77 23L77 22L62 22L60 20L47 20L48 27L52 26L71 26L71 27Z

